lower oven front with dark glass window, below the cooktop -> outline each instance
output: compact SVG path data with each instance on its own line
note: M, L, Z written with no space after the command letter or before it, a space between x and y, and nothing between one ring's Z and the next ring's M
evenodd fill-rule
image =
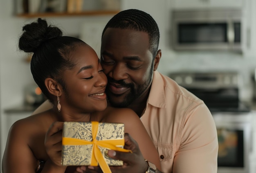
M218 133L218 173L249 173L252 115L249 112L215 112Z

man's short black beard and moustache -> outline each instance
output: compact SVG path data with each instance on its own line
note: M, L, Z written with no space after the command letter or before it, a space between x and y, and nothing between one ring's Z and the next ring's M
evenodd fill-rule
M138 99L148 89L148 87L152 81L152 75L153 75L153 67L150 69L150 75L149 75L147 81L145 83L143 83L142 85L137 85L137 88L135 88L135 85L133 83L125 83L124 80L115 81L115 79L108 77L108 82L118 83L119 85L130 88L130 91L128 93L125 93L126 96L124 97L123 101L115 102L108 98L108 102L113 107L128 107L130 104L132 104L132 102L134 102L136 99ZM110 96L110 95L114 95L115 97L122 96L122 95L116 95L116 94L111 93L108 90L108 86L106 88L106 94L107 94L107 96Z

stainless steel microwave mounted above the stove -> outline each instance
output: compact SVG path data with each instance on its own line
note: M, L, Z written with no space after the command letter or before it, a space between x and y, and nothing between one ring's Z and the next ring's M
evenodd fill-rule
M172 18L174 50L242 50L240 9L176 10Z

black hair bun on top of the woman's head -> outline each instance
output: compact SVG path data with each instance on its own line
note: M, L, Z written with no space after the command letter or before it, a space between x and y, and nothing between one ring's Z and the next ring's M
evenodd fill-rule
M37 22L23 26L22 31L23 33L19 39L19 48L25 52L34 53L43 42L62 36L60 28L48 26L47 21L41 18L38 18Z

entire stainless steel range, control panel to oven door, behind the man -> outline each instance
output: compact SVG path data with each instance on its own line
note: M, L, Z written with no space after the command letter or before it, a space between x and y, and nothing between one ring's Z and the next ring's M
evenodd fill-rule
M177 72L170 77L209 107L218 133L218 173L249 173L252 114L239 99L239 74Z

